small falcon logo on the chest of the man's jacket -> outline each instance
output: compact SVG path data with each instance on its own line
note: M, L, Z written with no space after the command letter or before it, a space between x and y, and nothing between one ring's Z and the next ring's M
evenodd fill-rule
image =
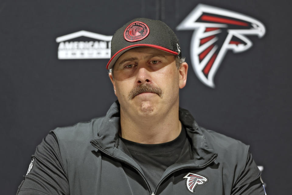
M188 173L186 176L183 177L186 179L186 188L191 193L195 193L194 190L196 186L202 186L206 182L208 182L208 178L197 173Z

